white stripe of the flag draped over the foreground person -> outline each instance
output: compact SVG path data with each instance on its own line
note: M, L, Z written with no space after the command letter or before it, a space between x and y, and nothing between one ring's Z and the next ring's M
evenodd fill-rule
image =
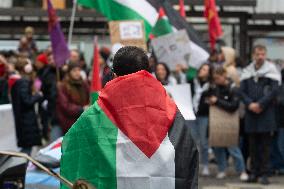
M118 189L174 189L175 150L166 136L149 159L121 131L116 145Z

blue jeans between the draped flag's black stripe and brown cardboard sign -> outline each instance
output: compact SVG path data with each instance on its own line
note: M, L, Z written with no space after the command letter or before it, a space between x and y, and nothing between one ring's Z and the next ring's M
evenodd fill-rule
M208 166L208 117L196 117L195 124L191 128L192 137L195 140L199 154L201 156L201 164Z

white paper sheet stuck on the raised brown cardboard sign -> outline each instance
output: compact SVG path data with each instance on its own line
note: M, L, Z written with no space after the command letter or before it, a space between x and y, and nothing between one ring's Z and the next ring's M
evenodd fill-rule
M139 21L127 21L119 24L120 38L122 40L128 39L143 39L143 26Z

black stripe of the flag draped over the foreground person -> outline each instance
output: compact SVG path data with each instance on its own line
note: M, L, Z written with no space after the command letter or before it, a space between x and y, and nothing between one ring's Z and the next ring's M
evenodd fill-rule
M198 151L190 132L190 126L180 112L170 129L169 138L175 148L175 188L198 188Z

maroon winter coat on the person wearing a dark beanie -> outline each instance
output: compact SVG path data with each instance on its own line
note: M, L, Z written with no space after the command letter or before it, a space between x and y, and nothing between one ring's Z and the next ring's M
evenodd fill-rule
M70 85L72 84L69 81L63 81L57 88L56 113L64 134L83 113L83 107L89 104L88 84L82 81L82 84L74 86L78 92L77 95L70 90ZM82 99L79 93L84 93L87 97Z

